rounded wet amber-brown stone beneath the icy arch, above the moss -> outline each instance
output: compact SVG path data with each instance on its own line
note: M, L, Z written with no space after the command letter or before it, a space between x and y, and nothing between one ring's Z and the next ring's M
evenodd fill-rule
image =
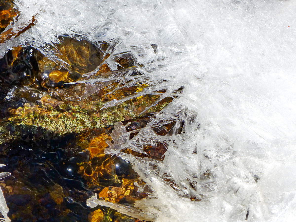
M77 81L82 74L95 70L102 62L102 52L88 41L65 36L61 39L62 43L56 45L55 51L64 62L63 67L36 52L38 80L43 87L63 87L63 83Z

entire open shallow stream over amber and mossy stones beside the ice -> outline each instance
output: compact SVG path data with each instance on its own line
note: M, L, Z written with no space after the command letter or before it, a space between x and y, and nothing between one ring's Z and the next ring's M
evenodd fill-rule
M98 111L102 102L140 88L107 95L112 90L108 86L80 100L86 85L64 83L80 79L89 71L85 63L90 60L95 67L101 61L100 53L94 52L96 49L87 41L64 39L60 48L72 73L58 70L30 47L17 47L0 60L0 163L6 165L1 168L3 172L11 173L0 185L8 216L12 221L139 221L108 207L87 207L86 200L98 193L103 200L129 205L147 196L137 192L134 182L144 182L131 165L120 157L104 154L104 149L108 147L105 141L112 140L110 133L116 121L130 121L128 131L146 126L152 114L146 112L140 117L138 113L155 96L142 96L107 112ZM67 52L71 56L67 57ZM79 52L84 53L82 57ZM119 62L123 68L128 67L125 59ZM104 71L107 67L102 68ZM163 134L167 129L158 131ZM162 159L165 150L162 144L146 149L154 159ZM112 197L106 191L112 192Z

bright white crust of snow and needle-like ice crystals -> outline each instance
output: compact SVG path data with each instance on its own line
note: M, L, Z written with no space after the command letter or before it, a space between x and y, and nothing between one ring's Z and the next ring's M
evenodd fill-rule
M2 55L9 47L29 45L67 66L48 47L61 41L58 36L87 39L98 47L105 41L110 43L106 52L110 57L104 63L111 70L116 70L118 57L134 58L142 75L126 71L99 82L149 84L140 93L165 89L162 98L184 88L136 138L121 138L118 141L125 142L120 149L116 144L116 149L107 150L131 162L153 191L134 207L159 222L293 221L295 1L16 0L15 4L20 10L15 32L30 24L33 16L35 25L0 45ZM89 84L96 82L92 74L86 74ZM153 128L168 122L174 122L174 128L167 136L157 136ZM141 151L159 141L168 147L164 161L120 152Z

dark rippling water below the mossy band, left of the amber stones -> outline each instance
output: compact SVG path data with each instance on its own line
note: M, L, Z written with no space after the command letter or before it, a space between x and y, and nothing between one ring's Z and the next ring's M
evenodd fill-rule
M66 149L74 135L51 141L15 141L2 147L5 198L12 221L87 221L93 191L77 173L79 147ZM9 188L12 192L9 193ZM63 212L69 213L63 215Z

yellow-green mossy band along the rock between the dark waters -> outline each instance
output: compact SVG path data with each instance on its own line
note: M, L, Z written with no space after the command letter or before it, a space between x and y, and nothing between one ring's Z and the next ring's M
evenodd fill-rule
M156 99L153 98L152 99ZM168 102L162 102L151 107L148 112L159 112L163 109ZM143 99L139 102L138 99L131 99L124 102L121 105L115 107L109 107L107 109L100 110L103 107L103 102L89 102L83 104L83 108L76 105L60 104L59 109L54 107L47 107L46 111L42 111L39 114L35 112L28 112L24 115L24 112L20 112L19 115L14 115L8 118L2 126L0 126L0 144L10 139L15 139L21 136L20 130L28 130L30 126L30 133L37 133L37 128L42 128L45 131L57 133L58 135L66 133L80 133L92 128L101 128L113 125L115 122L124 121L127 117L135 119L139 117L136 110L140 106L149 106L151 100ZM126 107L133 107L131 110ZM64 112L59 111L62 109ZM68 111L65 111L68 110ZM143 116L142 114L141 116ZM7 130L7 125L15 126L14 136L11 136Z

